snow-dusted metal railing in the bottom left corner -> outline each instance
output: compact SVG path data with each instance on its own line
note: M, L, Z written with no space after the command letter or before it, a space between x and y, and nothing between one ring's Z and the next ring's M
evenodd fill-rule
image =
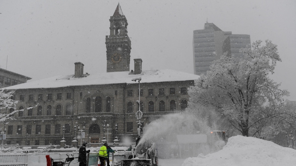
M28 152L21 154L1 154L0 166L28 166Z

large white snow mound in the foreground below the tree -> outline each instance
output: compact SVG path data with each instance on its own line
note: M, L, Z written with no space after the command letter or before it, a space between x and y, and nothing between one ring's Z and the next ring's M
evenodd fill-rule
M233 136L222 150L189 157L182 166L262 166L294 165L296 150L254 137Z

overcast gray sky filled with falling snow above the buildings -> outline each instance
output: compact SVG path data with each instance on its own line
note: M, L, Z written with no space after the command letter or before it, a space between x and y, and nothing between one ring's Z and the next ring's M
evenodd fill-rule
M143 69L193 71L193 30L208 19L223 31L248 34L251 42L278 45L276 82L296 100L295 0L149 0L119 1L128 20L133 58ZM105 35L118 1L0 0L0 66L32 80L74 74L74 62L84 73L106 72Z

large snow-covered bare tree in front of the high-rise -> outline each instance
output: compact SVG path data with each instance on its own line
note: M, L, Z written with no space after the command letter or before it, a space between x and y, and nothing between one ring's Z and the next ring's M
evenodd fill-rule
M282 104L289 92L268 77L281 61L277 45L269 40L261 43L258 40L252 49L241 49L241 58L225 53L189 88L191 105L214 106L244 136L266 136L291 125L295 118L294 111Z

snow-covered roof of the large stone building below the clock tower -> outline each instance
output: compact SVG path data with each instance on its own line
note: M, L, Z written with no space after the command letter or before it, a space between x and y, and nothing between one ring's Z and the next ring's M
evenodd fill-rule
M87 77L75 78L74 75L59 75L40 79L32 82L5 87L4 89L34 89L34 88L59 88L83 85L103 84L137 84L133 78L141 76L140 83L172 82L195 80L200 76L170 69L142 71L141 74L129 74L129 71L90 74Z

